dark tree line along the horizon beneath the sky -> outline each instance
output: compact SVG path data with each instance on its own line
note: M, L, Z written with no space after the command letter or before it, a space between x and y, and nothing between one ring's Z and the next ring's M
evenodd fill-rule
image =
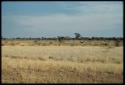
M32 37L17 37L17 38L4 38L2 37L3 40L7 39L12 39L12 40L58 40L58 41L63 41L63 40L123 40L122 37L82 37L80 33L74 33L75 37L70 37L70 36L57 36L57 37L41 37L41 38L32 38Z

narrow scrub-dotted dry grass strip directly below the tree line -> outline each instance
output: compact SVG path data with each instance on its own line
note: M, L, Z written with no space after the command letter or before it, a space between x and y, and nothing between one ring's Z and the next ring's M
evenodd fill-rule
M81 43L82 41L82 43ZM2 40L3 46L123 46L123 41L116 40Z

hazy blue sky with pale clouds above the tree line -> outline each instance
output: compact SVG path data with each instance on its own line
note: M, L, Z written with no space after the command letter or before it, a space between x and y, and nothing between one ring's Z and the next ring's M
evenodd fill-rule
M3 37L123 37L122 1L3 1Z

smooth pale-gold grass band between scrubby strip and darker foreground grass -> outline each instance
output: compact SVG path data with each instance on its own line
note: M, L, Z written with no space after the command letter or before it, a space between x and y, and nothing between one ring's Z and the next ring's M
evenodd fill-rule
M2 56L72 62L123 62L123 47L2 46Z

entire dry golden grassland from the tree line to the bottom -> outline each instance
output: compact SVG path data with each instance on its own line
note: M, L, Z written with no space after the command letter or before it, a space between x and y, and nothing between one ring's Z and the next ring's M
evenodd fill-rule
M70 42L3 40L2 83L123 83L122 42Z

